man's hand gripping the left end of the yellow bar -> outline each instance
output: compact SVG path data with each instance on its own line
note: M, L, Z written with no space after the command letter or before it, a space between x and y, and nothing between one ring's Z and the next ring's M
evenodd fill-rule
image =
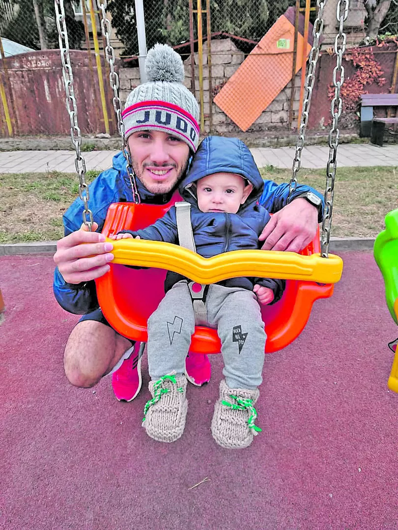
M97 228L94 223L93 229ZM89 232L83 223L79 230L58 241L54 261L68 284L80 284L108 272L108 262L114 259L109 253L112 249L112 243L105 243L105 235Z

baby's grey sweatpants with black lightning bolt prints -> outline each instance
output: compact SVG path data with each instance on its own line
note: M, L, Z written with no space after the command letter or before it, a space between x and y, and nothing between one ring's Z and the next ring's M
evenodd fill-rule
M266 334L255 294L247 289L210 285L207 325L218 330L230 388L255 390L262 383ZM186 281L172 287L148 320L148 365L152 379L185 373L185 358L195 331Z

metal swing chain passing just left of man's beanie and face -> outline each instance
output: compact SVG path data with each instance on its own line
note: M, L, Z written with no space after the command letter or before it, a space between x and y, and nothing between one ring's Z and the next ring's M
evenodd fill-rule
M115 72L115 50L110 43L111 26L110 26L110 21L106 15L107 0L97 0L97 5L101 13L102 35L103 37L105 37L106 43L107 43L105 47L105 56L106 56L106 59L110 67L109 82L110 82L111 89L114 91L113 104L114 104L114 109L115 109L116 118L117 118L117 128L119 130L120 136L122 137L122 151L123 151L124 157L126 158L127 174L130 179L131 190L133 192L133 202L135 202L136 204L140 204L141 198L137 190L137 183L135 180L135 174L133 170L131 155L130 155L130 151L129 151L126 138L125 138L125 129L124 129L124 123L123 123L123 118L122 118L122 102L120 101L120 98L119 98L119 76L117 72Z

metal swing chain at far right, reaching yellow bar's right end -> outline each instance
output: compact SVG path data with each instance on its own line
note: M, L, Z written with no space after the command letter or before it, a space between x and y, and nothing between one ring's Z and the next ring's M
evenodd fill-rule
M334 179L337 166L337 148L339 145L340 130L338 122L341 115L342 99L340 96L341 86L344 82L344 66L342 65L343 54L347 36L343 31L344 21L347 19L349 0L339 0L336 8L336 19L339 22L339 33L334 41L334 52L336 54L336 66L333 70L334 98L331 103L332 127L329 132L329 159L326 165L326 187L325 187L325 214L322 223L321 255L327 258L329 252L330 231L332 226Z

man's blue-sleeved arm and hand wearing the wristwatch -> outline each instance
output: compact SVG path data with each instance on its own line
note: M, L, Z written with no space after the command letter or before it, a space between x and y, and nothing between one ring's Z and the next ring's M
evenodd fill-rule
M319 208L299 197L308 191L321 198ZM309 186L298 184L289 204L288 197L289 183L265 182L259 203L274 215L259 236L259 241L264 241L263 250L300 252L315 237L317 225L323 219L322 195Z

